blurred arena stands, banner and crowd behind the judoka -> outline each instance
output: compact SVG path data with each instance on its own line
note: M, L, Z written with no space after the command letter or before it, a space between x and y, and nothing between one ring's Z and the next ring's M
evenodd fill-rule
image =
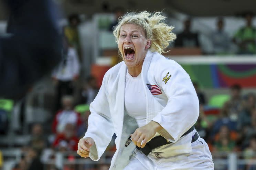
M65 59L22 100L0 99L0 169L107 170L76 154L89 104L118 57L112 28L127 11L162 11L177 40L164 56L189 73L200 101L195 124L215 170L256 169L255 0L55 0ZM0 34L8 10L0 2ZM34 167L33 167L34 166Z

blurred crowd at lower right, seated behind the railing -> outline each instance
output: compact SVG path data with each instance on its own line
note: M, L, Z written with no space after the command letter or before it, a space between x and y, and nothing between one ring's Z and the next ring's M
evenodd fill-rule
M242 87L234 84L230 95L216 98L221 107L207 106L205 96L194 83L200 102L200 116L195 124L199 135L208 143L212 153L219 153L219 158L226 154L241 151L240 158L256 158L256 96L254 93L242 95ZM216 95L217 96L217 95ZM217 96L218 97L218 96ZM217 105L216 105L217 106ZM256 165L238 167L240 170L253 170ZM227 167L215 167L225 170Z

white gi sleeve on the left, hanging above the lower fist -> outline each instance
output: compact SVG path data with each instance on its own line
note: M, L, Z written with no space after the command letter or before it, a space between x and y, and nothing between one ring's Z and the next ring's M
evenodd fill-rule
M88 130L84 136L84 138L91 137L94 139L95 144L90 148L89 153L89 157L94 161L99 160L114 135L114 126L111 120L107 98L106 74L96 98L90 104L91 113L88 118Z

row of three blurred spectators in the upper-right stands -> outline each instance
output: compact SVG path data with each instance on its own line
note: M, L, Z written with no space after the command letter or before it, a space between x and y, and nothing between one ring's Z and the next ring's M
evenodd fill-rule
M239 28L233 37L230 37L224 31L225 20L219 17L216 20L216 30L210 33L210 39L213 45L213 54L227 54L231 49L232 43L237 45L237 54L255 54L256 53L256 28L252 23L253 13L247 12L243 14L245 25ZM191 31L191 22L188 18L184 21L184 29L177 34L177 40L174 47L196 47L201 48L199 34Z

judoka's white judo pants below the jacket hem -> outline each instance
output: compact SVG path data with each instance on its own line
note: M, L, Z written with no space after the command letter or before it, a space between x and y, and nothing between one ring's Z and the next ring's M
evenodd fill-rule
M159 155L146 156L136 149L124 170L213 170L214 165L209 147L203 138L192 143L192 152L170 158Z

